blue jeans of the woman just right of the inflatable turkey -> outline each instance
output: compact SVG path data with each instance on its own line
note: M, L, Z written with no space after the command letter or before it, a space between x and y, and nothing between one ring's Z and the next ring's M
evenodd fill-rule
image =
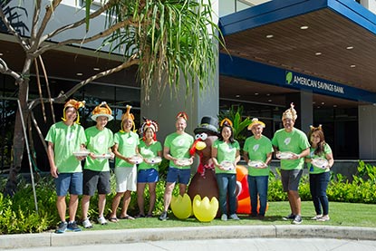
M236 174L217 173L219 208L227 215L227 195L229 215L236 213Z

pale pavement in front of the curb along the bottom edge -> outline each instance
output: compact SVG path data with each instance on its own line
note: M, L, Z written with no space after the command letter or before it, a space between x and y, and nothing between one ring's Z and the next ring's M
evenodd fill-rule
M5 249L14 251L14 249ZM16 251L35 251L40 247L16 249ZM260 250L260 251L374 251L376 241L319 239L319 238L247 238L247 239L209 239L183 241L147 241L124 244L96 244L86 246L49 246L43 251L228 251L228 250Z

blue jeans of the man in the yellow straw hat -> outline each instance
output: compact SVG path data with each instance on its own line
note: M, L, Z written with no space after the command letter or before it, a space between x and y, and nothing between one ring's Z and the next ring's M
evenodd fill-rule
M259 216L265 216L267 202L267 186L269 183L268 176L250 176L248 175L248 188L251 197L251 215L257 215L257 195L260 199Z

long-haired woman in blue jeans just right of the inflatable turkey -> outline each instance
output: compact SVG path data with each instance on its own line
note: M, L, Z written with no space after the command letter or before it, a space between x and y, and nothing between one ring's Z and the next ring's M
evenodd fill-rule
M236 215L236 165L240 160L240 146L234 139L232 121L227 118L220 123L220 134L211 147L211 157L216 167L216 177L219 190L219 209L221 220L238 220Z

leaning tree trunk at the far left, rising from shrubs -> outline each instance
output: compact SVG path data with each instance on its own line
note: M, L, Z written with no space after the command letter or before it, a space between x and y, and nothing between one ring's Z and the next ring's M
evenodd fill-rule
M26 58L24 62L24 71L22 72L23 81L18 82L19 92L18 99L21 104L21 110L23 112L24 121L27 121L29 112L27 108L28 96L29 96L29 75L30 67L33 59ZM17 105L17 111L15 114L14 123L14 136L13 136L13 162L9 170L9 176L5 186L5 196L14 196L14 192L17 188L17 176L21 170L21 164L24 157L24 130L20 116L20 109Z

